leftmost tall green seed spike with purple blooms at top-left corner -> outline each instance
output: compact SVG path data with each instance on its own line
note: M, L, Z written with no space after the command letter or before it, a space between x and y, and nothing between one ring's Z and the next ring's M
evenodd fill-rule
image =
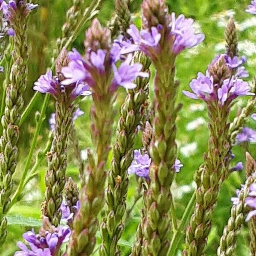
M12 2L12 3L11 3ZM20 114L23 110L23 93L27 81L27 22L32 4L26 1L1 1L1 9L15 31L13 38L12 71L6 87L6 107L1 123L3 135L0 138L0 247L6 239L6 213L11 206L13 189L12 175L17 165Z

